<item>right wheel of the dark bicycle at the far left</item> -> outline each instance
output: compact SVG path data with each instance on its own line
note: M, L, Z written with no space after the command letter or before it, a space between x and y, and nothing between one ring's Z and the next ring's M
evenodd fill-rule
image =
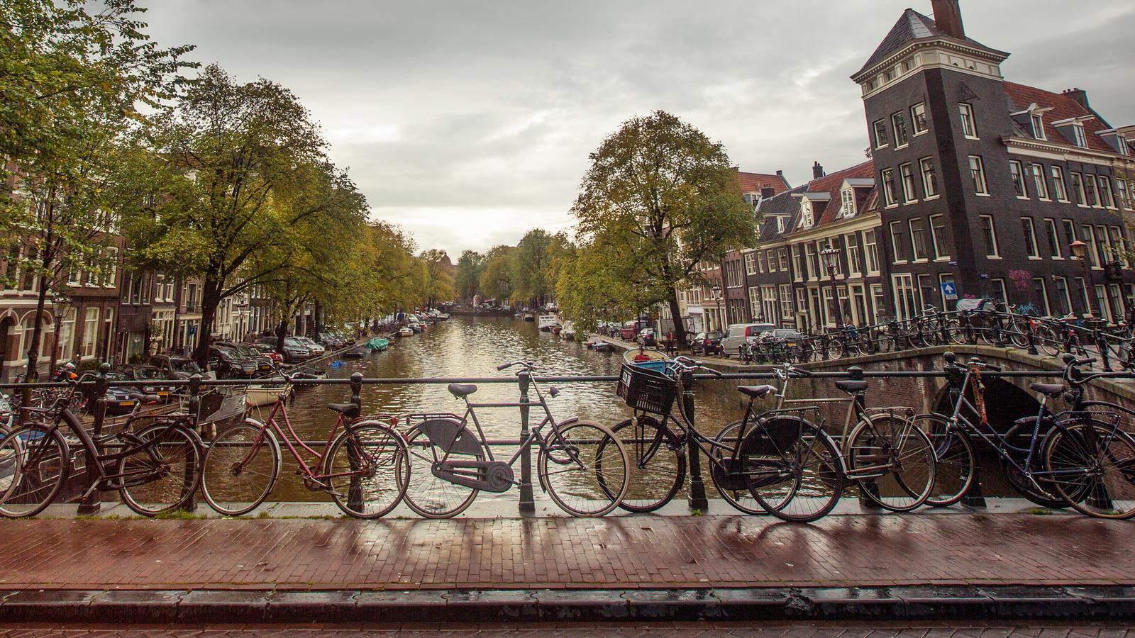
M153 517L185 505L201 481L201 450L197 433L182 427L154 423L137 433L148 446L118 461L118 476L111 481L123 503L143 517ZM137 484L141 485L133 485Z

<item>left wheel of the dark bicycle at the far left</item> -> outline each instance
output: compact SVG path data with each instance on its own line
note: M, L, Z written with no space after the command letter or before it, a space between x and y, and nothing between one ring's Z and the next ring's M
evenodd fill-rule
M0 515L34 517L59 495L70 473L70 448L59 430L16 428L0 442Z

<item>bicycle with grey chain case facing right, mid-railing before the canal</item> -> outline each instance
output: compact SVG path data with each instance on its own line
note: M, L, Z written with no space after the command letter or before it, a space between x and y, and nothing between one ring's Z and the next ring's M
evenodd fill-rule
M627 494L625 450L621 444L611 451L599 450L599 444L611 436L611 430L602 425L580 419L557 422L547 397L531 377L536 364L513 361L498 366L497 370L512 367L520 368L520 383L530 384L537 401L474 403L469 397L477 392L476 385L449 384L449 394L465 402L464 414L407 417L407 423L415 422L405 435L409 453L400 463L400 470L404 465L407 473L406 505L430 519L455 517L465 511L481 490L504 493L520 485L513 465L526 448L536 444L539 446L536 465L540 487L560 509L577 517L609 513ZM558 394L555 387L548 389L553 398ZM533 406L544 411L543 420L531 428L527 438L518 440L520 447L512 457L497 461L486 443L477 409ZM470 421L476 433L469 428ZM545 436L546 426L550 426L550 433Z

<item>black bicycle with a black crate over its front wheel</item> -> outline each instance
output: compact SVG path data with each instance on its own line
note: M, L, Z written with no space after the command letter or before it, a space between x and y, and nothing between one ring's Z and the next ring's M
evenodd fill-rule
M620 371L619 395L634 409L612 431L630 454L633 475L620 507L630 512L656 511L678 494L686 480L687 452L709 460L711 479L722 497L747 514L770 513L782 520L810 522L826 515L839 501L843 473L834 443L812 421L801 417L814 408L767 411L757 415L754 403L777 392L770 385L740 386L748 397L745 417L726 425L715 437L703 435L683 405L674 401L692 394L695 371L721 372L686 356L625 364ZM806 376L791 366L774 370L779 378ZM670 427L674 425L674 428ZM676 431L675 431L676 429ZM779 494L770 488L788 484ZM800 497L808 510L789 507Z

